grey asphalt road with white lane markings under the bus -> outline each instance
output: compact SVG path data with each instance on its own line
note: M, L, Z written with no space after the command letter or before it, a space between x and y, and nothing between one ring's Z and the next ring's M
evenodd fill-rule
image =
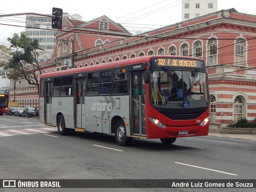
M0 116L0 146L0 179L256 179L256 142L235 138L178 138L169 146L159 139L133 139L131 146L122 147L114 135L60 136L38 118L4 115ZM36 189L71 190L251 192L255 188Z

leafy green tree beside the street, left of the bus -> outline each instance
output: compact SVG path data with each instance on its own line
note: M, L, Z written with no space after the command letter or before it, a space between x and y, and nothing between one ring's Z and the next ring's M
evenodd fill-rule
M28 84L37 86L39 91L36 73L42 74L44 71L37 61L38 41L31 41L26 36L26 32L20 32L20 35L15 33L12 38L7 38L7 40L10 42L10 48L2 47L0 54L6 57L0 60L0 67L2 68L0 75L14 81L25 79Z

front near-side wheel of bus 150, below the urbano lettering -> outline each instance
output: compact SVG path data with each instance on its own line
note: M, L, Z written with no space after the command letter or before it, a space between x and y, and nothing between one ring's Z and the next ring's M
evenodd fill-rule
M132 141L132 137L126 136L126 127L123 120L118 120L115 125L115 139L120 146L127 146Z

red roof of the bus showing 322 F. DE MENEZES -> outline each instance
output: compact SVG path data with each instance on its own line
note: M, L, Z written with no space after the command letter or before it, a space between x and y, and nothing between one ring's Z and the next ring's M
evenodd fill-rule
M132 65L132 64L150 62L150 60L152 58L166 58L166 57L188 59L187 56L170 56L170 55L142 56L142 57L136 57L136 58L132 58L132 59L113 61L113 62L104 63L104 64L98 64L98 65L92 65L92 66L86 66L86 67L80 67L80 68L73 68L70 70L62 70L62 71L56 71L56 72L51 72L51 73L44 73L44 74L40 75L40 78L62 76L62 75L94 71L94 70L101 70L101 69L108 69L108 68L116 68L116 67ZM200 58L193 58L193 59L203 61L203 59L200 59Z

